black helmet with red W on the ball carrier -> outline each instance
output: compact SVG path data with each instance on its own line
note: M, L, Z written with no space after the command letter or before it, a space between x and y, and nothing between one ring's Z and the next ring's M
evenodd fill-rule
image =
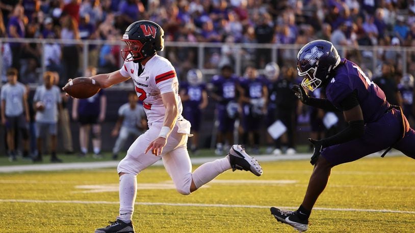
M127 44L127 48L121 50L122 58L126 62L140 62L157 51L163 51L164 31L155 22L140 20L127 27L122 41Z

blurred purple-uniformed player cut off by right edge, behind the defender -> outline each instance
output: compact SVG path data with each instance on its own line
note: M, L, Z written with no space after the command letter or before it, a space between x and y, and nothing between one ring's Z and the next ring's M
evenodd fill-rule
M413 107L413 76L411 74L405 74L401 82L398 84L399 93L402 96L402 108L408 119L415 120ZM409 120L410 121L410 120Z

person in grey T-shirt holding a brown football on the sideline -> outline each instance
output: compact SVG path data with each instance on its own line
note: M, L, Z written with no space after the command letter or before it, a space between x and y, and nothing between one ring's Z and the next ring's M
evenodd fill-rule
M37 138L37 157L33 159L34 162L41 162L43 160L43 139L46 135L50 135L50 162L62 162L56 156L56 149L58 144L58 114L62 109L61 91L55 83L55 74L46 71L43 74L43 84L36 88L35 96L33 97L34 108L36 109L36 138Z

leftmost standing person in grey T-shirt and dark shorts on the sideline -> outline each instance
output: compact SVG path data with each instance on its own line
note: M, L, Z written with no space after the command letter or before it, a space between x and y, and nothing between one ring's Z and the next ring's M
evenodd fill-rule
M29 155L29 108L27 90L17 81L18 72L15 68L7 71L8 82L0 90L2 124L7 132L7 146L10 161L15 161L17 148L15 135L21 133L23 139L23 156Z

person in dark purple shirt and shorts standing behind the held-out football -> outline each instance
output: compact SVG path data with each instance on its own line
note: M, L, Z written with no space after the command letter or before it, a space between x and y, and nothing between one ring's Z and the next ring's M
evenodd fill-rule
M85 76L96 74L96 69L89 67ZM107 97L101 90L88 99L73 99L72 119L80 123L79 140L81 145L80 157L88 153L89 132L92 128L92 146L94 158L101 158L101 123L105 120Z

